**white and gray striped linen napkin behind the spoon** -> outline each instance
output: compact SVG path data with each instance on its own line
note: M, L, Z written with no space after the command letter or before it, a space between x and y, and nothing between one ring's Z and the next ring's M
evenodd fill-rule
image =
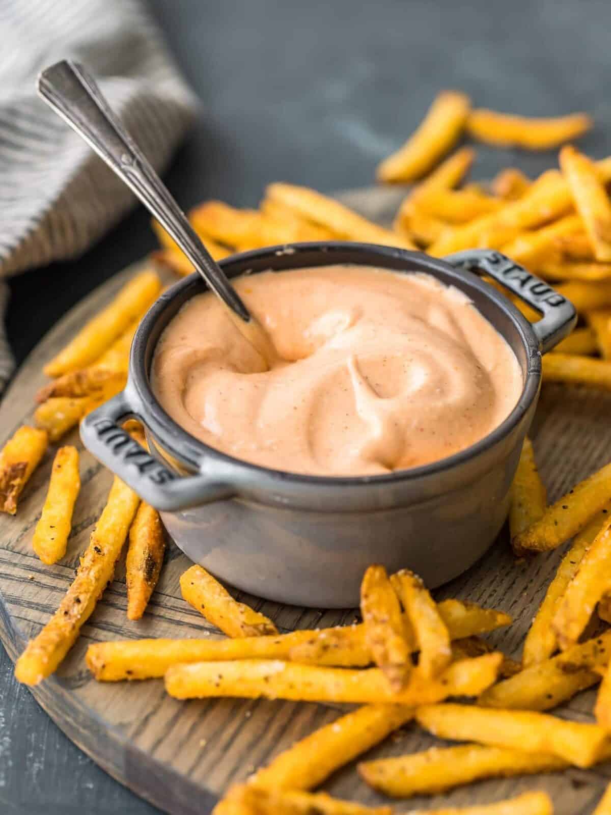
M59 59L86 65L156 170L168 163L197 102L140 0L2 0L0 42L2 277L77 256L135 203L38 99L42 68ZM0 284L0 392L14 368L6 306Z

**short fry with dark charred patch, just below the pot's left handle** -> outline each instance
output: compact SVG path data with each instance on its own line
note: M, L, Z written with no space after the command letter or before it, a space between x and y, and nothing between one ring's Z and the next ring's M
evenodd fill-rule
M159 579L164 562L165 535L159 513L144 501L130 527L125 563L127 619L140 619Z

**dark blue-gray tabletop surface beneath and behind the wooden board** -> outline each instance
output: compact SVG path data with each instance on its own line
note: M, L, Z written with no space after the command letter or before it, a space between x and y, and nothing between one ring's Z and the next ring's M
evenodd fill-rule
M191 139L166 176L186 207L212 196L255 205L275 179L323 191L365 186L377 161L402 143L444 87L507 111L587 110L596 130L583 148L611 152L609 0L150 5L202 100ZM553 155L481 148L476 174L488 177L508 164L535 173L553 163ZM139 210L85 258L15 279L8 330L19 359L59 315L153 245ZM59 733L16 685L2 652L0 813L77 812L156 809Z

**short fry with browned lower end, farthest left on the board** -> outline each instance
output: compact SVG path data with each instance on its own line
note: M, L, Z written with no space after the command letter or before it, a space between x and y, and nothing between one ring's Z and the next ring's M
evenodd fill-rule
M0 452L0 512L15 515L17 499L29 477L45 455L45 430L24 425L5 443Z

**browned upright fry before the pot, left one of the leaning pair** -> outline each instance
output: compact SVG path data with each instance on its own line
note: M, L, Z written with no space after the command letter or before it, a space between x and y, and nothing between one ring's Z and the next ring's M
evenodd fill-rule
M361 584L361 615L365 641L374 662L394 691L400 691L411 672L411 647L405 621L384 566L369 566Z

